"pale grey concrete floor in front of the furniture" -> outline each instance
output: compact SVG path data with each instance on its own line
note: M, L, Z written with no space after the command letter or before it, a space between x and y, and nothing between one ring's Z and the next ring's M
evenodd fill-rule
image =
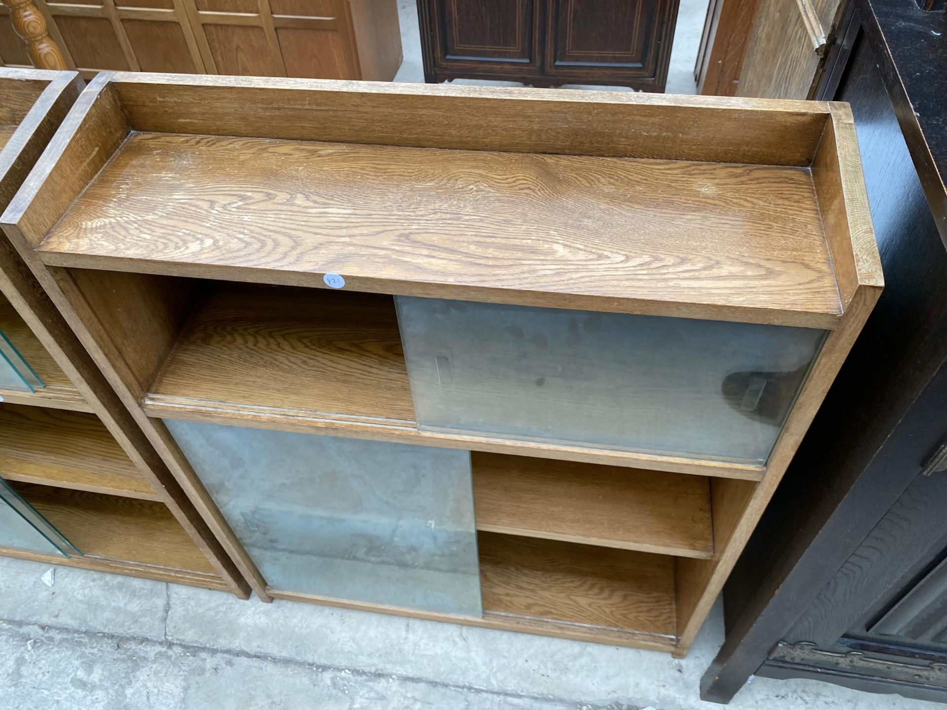
M688 658L277 601L0 558L2 710L689 710ZM759 678L733 710L938 705Z

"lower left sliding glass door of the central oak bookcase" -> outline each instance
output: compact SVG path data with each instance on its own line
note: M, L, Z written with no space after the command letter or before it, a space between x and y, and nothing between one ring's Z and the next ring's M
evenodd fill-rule
M269 586L481 615L469 452L165 423Z

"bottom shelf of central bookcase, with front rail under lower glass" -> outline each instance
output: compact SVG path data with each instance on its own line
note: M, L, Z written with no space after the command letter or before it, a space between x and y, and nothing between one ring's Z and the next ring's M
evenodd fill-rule
M267 588L274 599L610 646L674 648L674 562L663 555L480 533L483 618Z

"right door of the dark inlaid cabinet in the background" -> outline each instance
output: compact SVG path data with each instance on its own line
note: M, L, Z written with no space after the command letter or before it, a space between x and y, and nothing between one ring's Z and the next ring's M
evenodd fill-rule
M651 77L670 53L675 0L546 0L545 71ZM667 61L663 62L667 71Z

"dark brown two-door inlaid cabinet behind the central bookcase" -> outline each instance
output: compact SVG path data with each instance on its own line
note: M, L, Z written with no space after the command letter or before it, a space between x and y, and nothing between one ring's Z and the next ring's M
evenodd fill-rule
M664 91L677 0L419 0L424 79Z

